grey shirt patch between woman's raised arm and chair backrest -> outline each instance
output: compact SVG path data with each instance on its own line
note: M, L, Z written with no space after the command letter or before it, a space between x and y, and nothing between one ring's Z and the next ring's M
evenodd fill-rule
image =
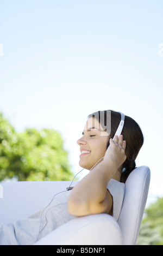
M125 193L125 184L111 179L107 188L113 198L113 217L118 221Z

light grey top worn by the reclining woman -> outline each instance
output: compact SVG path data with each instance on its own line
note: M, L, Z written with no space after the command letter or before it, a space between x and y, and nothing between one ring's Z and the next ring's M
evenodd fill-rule
M118 220L124 198L124 183L110 180L108 189L113 198L113 217ZM67 211L71 190L55 195L52 202L26 219L0 223L0 245L33 245L62 224L76 218Z

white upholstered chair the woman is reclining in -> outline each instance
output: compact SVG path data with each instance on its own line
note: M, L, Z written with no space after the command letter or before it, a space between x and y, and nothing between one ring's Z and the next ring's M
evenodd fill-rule
M105 213L72 219L35 245L136 245L146 206L151 171L136 168L126 181L126 194L118 222ZM68 187L70 181L1 183L0 222L27 218ZM73 186L76 182L73 182Z

